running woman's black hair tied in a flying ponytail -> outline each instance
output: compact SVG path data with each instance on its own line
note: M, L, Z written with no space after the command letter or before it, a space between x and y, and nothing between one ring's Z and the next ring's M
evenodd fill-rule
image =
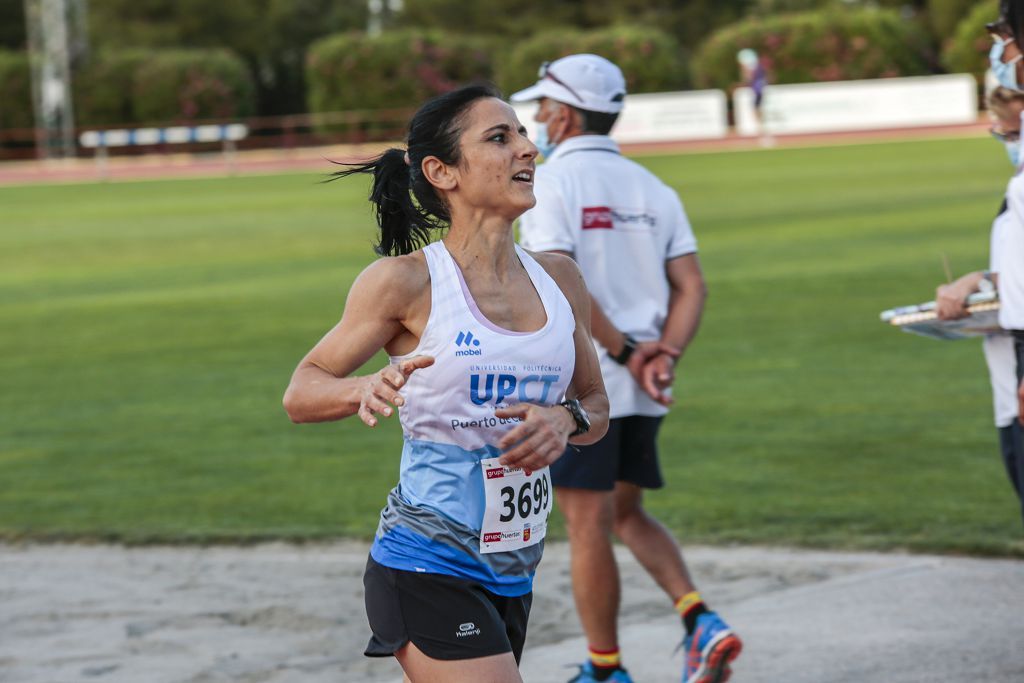
M381 228L378 254L409 254L430 243L430 232L447 227L452 220L449 208L434 186L423 176L423 160L437 157L445 164L461 160L459 137L466 112L477 99L502 98L498 88L488 84L467 85L438 95L426 102L409 122L407 150L392 147L369 162L345 164L344 170L332 173L337 180L354 173L372 173L374 182L370 201L375 206ZM406 157L409 157L409 163Z

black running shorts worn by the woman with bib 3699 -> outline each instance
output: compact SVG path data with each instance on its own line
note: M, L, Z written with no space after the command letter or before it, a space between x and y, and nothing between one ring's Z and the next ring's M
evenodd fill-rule
M522 656L532 593L506 598L476 582L392 569L373 557L362 586L373 632L367 656L391 656L410 641L434 659Z

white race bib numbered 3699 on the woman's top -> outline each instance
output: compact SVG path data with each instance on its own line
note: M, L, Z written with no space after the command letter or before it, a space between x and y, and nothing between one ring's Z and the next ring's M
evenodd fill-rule
M553 504L547 467L528 475L498 458L480 461L486 508L480 528L480 552L500 553L532 546L548 531Z

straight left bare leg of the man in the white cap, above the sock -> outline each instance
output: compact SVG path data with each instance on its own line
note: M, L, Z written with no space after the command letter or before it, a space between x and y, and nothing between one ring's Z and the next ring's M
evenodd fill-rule
M610 490L555 487L569 536L572 596L587 642L618 648L618 566L611 547L614 498Z

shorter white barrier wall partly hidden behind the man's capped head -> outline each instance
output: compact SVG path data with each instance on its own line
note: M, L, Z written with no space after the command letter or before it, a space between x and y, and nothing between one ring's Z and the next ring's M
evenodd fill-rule
M616 142L667 142L725 137L728 132L727 100L721 90L657 92L627 95L623 114L611 129ZM512 105L537 139L537 102Z

